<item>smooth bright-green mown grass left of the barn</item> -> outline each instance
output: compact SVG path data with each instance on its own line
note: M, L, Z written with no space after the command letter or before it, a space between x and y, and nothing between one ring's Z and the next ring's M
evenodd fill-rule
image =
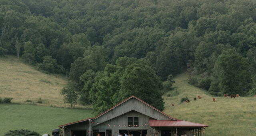
M51 134L58 126L92 117L91 109L68 109L28 104L0 104L0 136L9 130L28 129Z

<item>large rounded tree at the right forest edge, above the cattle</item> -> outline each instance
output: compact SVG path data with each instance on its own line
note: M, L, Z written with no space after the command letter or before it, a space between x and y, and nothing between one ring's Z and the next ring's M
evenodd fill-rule
M226 50L218 57L219 87L223 94L246 95L250 86L249 61L234 50Z

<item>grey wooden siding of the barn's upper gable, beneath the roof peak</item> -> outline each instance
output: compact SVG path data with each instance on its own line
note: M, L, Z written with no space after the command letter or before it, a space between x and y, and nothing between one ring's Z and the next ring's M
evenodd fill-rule
M140 112L156 120L171 120L168 116L158 112L157 110L154 110L152 107L144 104L143 102L140 102L136 98L131 98L126 102L120 104L119 106L113 108L112 110L99 116L94 120L94 122L103 123L103 122L106 122L107 120L116 118L117 116L130 112L132 110ZM93 124L92 126L95 126L95 125L97 124Z

